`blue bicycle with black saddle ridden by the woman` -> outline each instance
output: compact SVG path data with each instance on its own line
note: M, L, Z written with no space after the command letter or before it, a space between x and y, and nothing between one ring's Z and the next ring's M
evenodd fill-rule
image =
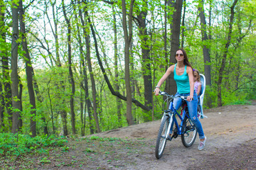
M182 144L185 147L191 147L196 140L197 130L196 126L193 125L188 114L188 106L186 105L186 96L179 96L182 98L181 114L173 106L174 96L169 95L164 91L159 91L159 94L166 96L166 103L168 110L164 111L164 115L161 118L161 125L159 128L159 134L156 138L156 149L155 155L157 159L160 159L164 153L167 140L181 136ZM176 116L178 115L178 116ZM177 118L181 120L178 125Z

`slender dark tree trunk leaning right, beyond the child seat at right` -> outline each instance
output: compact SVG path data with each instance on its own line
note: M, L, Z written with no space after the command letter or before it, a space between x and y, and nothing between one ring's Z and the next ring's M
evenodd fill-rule
M221 98L221 83L222 83L222 80L223 80L223 74L224 74L224 69L225 69L225 63L226 63L226 60L227 60L227 54L228 54L228 48L230 46L230 41L231 41L231 36L232 36L232 28L233 28L233 20L234 20L234 15L235 15L235 11L234 11L234 8L235 8L235 5L237 4L238 0L235 0L233 5L231 6L230 8L230 23L229 23L229 28L228 28L228 40L225 44L225 49L224 49L224 52L223 52L223 57L222 57L222 62L221 62L221 65L220 65L220 69L219 69L219 77L218 77L218 106L222 106L223 103L222 103L222 98Z

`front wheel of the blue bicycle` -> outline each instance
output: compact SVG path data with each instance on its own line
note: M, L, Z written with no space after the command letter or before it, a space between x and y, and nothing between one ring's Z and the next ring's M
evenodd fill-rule
M169 127L169 116L165 115L163 120L161 121L159 134L156 137L155 155L157 159L160 159L163 156L164 148L166 146L166 138L167 138L167 135L169 135L168 127Z

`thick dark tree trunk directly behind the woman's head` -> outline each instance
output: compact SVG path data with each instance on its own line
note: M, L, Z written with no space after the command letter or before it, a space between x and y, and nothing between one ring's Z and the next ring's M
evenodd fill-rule
M173 23L171 24L171 54L170 54L170 65L176 63L175 52L179 47L179 37L181 32L181 10L182 10L182 0L176 0L174 4L174 15ZM169 94L176 94L177 86L174 81L174 74L171 74L166 79L165 91Z

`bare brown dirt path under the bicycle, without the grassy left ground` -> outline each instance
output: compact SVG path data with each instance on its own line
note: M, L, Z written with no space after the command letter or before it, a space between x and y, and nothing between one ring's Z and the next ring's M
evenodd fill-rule
M201 152L197 150L198 139L192 147L186 148L178 137L167 142L164 156L157 160L154 144L160 120L102 132L97 136L148 139L151 148L144 148L144 155L134 159L136 166L123 169L256 169L256 106L224 106L204 113L208 118L201 119L201 123L207 142Z

